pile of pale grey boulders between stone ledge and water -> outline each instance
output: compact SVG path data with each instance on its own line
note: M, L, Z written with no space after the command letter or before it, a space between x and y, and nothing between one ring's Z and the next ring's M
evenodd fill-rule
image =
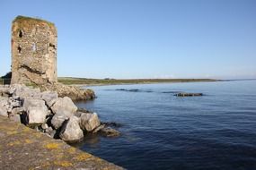
M40 89L15 84L4 93L8 93L9 97L0 97L0 115L53 138L75 142L83 140L88 132L119 135L119 132L101 123L96 113L81 112L71 98L59 98L56 91L40 92Z

